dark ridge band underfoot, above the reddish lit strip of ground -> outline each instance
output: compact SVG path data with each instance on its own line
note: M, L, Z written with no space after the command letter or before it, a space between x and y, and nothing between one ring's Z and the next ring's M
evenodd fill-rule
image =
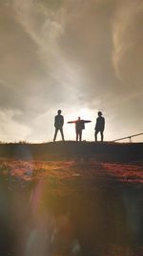
M143 143L49 142L0 144L0 157L49 158L94 157L102 161L141 161Z

